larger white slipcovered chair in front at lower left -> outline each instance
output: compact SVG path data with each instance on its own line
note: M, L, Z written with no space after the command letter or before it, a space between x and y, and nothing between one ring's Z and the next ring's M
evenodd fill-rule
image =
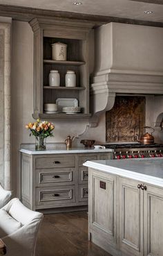
M13 198L0 209L0 238L6 244L6 256L34 256L39 224L43 214L25 207Z

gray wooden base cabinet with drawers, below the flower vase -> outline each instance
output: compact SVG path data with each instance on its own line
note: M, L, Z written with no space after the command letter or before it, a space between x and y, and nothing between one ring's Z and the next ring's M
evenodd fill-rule
M66 207L86 209L88 169L86 160L111 158L111 153L29 155L21 153L21 200L32 210Z

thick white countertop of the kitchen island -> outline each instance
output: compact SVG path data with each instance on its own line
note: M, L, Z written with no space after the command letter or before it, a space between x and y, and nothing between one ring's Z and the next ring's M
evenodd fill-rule
M163 157L87 161L84 166L163 187Z

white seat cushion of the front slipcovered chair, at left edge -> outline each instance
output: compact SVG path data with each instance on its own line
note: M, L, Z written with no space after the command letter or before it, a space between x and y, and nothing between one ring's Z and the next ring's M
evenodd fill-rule
M0 209L0 238L12 234L19 228L21 228L21 223L13 219L6 210Z

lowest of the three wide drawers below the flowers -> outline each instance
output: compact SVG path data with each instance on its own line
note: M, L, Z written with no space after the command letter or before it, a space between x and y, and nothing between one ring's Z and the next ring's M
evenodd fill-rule
M57 205L75 203L75 186L46 187L36 189L36 205Z

